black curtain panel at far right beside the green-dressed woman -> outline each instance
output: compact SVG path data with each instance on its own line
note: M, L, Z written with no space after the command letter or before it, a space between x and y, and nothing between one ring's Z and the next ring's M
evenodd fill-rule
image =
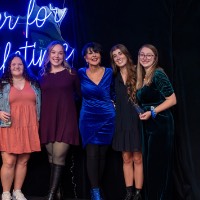
M200 2L177 1L173 21L173 58L178 98L175 113L175 199L200 199L199 44Z

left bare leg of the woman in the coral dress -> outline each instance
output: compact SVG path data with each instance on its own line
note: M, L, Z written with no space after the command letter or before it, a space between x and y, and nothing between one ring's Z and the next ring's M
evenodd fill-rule
M6 152L1 152L1 156L3 160L3 165L1 168L1 182L3 187L3 192L6 191L10 192L14 179L17 156L15 154L10 154Z

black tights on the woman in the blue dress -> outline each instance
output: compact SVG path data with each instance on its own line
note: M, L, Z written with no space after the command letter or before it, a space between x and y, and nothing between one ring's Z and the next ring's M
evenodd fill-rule
M101 184L108 145L88 144L87 153L87 173L92 188L97 188Z

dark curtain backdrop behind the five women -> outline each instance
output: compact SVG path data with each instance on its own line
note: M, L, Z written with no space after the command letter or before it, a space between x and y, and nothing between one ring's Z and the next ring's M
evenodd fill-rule
M174 86L178 103L175 118L174 199L200 199L200 1L199 0L52 0L54 6L67 7L61 25L63 38L76 49L74 67L83 66L81 48L96 41L105 50L104 64L109 65L109 50L123 43L136 63L137 52L144 43L159 50L160 65ZM40 6L49 1L37 1ZM25 15L27 0L0 2L0 12ZM13 35L3 35L0 43ZM68 197L88 197L85 152L73 147L66 158L63 177ZM24 191L44 195L48 189L49 168L45 150L34 153ZM104 178L108 199L117 200L124 192L122 160L118 152L109 150ZM117 191L117 192L116 192Z

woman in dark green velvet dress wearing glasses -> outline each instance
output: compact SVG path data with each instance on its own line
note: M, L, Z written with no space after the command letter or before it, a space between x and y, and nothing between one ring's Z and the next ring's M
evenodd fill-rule
M176 104L172 85L158 66L157 49L143 45L138 53L137 99L143 114L143 165L145 200L172 199L174 122L170 107Z

